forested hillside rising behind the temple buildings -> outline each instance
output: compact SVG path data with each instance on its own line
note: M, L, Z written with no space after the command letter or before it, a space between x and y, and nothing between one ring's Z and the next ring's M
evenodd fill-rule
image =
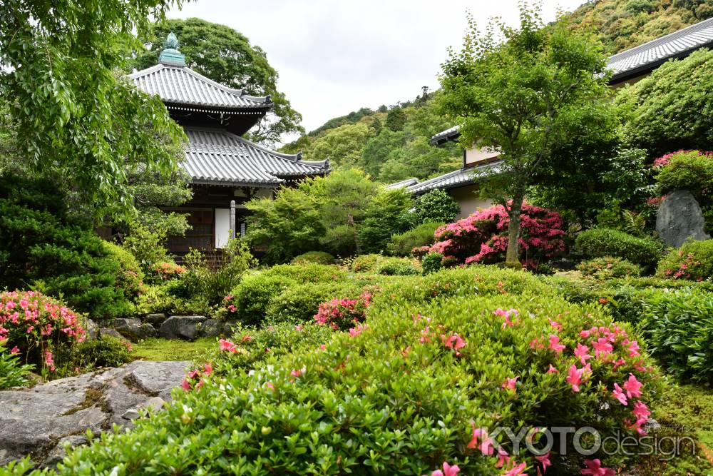
M711 16L713 0L592 0L563 21L595 32L607 54L615 54ZM282 151L302 151L307 160L329 157L333 166L356 166L384 183L452 171L461 164L458 146L429 145L431 136L455 125L436 111L437 96L424 91L414 101L332 118Z

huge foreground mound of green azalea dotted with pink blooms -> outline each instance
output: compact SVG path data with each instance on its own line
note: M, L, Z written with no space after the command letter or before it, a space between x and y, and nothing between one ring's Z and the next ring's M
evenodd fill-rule
M481 292L451 293L453 278ZM643 431L661 381L631 329L598 305L530 293L538 278L512 270L392 279L411 285L380 293L353 332L285 324L222 341L165 411L73 450L56 472L424 475L447 462L464 474L535 474L543 460L487 429L597 421L602 437ZM414 298L437 281L442 294ZM547 455L560 473L594 465L565 445L566 457ZM623 459L589 458L602 470Z

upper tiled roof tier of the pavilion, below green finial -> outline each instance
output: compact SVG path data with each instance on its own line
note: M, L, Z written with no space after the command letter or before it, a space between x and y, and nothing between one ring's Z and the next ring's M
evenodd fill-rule
M157 94L168 104L185 104L215 108L269 108L270 96L248 96L241 89L232 89L207 79L188 66L157 64L130 74L136 86Z

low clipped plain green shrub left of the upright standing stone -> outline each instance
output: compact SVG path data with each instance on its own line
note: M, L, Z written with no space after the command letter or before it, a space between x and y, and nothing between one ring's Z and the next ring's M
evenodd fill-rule
M614 256L641 265L645 270L655 267L664 246L653 238L637 238L609 228L592 228L578 234L575 245L585 256Z

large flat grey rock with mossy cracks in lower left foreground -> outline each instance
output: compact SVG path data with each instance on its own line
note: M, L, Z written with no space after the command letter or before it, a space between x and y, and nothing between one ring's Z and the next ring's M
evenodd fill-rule
M39 465L63 457L61 443L83 435L132 427L123 415L150 405L160 408L188 370L188 362L138 360L121 368L53 380L34 388L0 391L0 465L31 455Z

